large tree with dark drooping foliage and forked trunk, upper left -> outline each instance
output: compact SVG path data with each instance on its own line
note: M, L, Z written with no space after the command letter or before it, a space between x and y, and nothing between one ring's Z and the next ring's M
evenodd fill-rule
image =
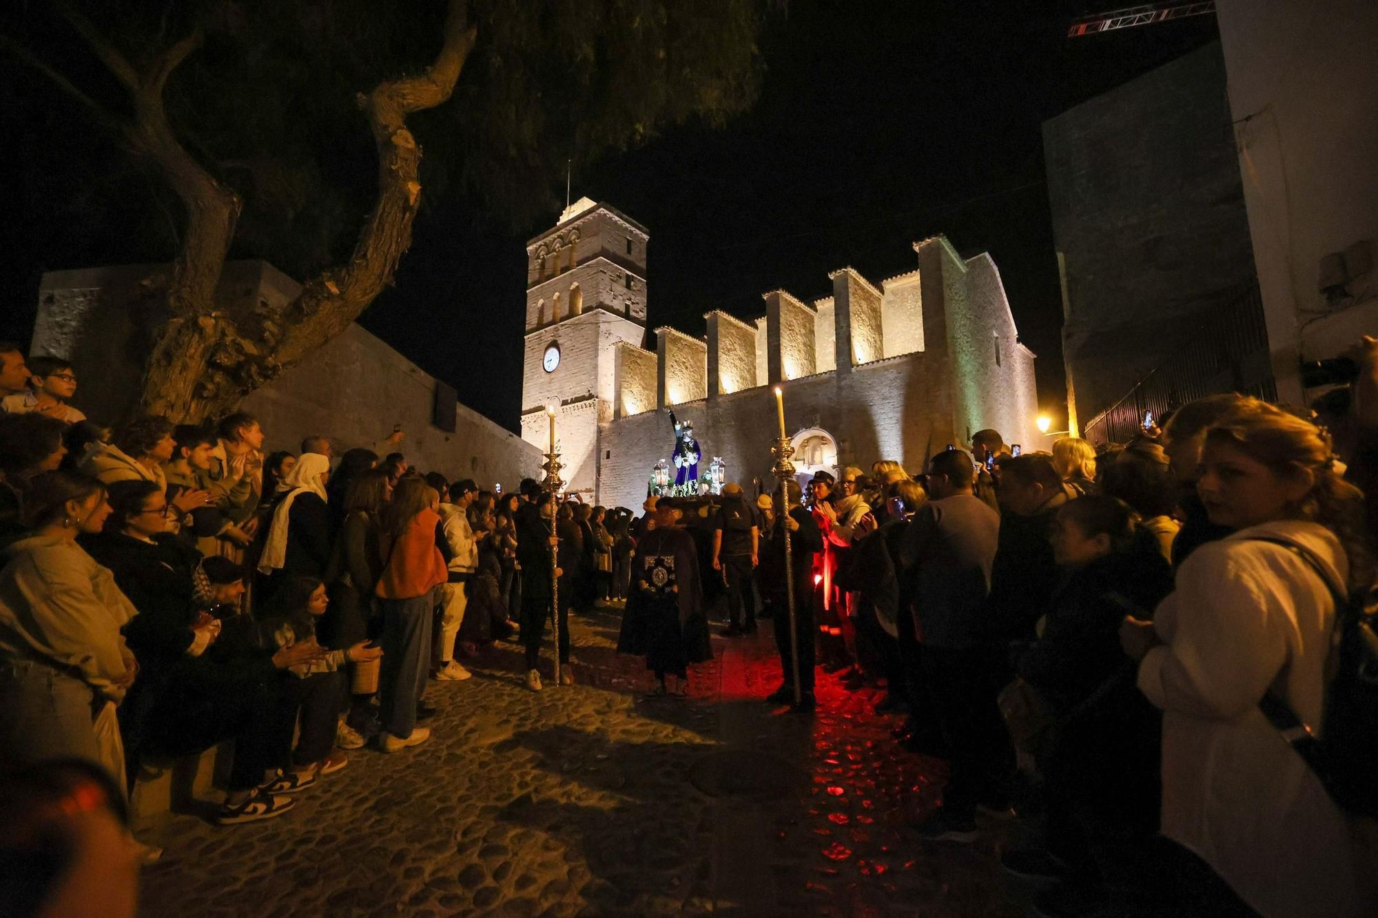
M393 281L429 198L521 226L557 207L568 160L750 106L765 14L761 0L33 1L0 19L3 110L25 125L25 205L69 214L77 252L171 262L146 284L160 306L141 401L194 419L343 331ZM226 258L270 261L302 295L218 312Z

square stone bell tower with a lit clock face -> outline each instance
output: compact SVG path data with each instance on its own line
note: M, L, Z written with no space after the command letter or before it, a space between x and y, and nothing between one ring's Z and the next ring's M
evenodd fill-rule
M646 334L646 229L582 197L526 243L522 438L550 448L547 405L566 492L598 500L599 430L612 420L613 346Z

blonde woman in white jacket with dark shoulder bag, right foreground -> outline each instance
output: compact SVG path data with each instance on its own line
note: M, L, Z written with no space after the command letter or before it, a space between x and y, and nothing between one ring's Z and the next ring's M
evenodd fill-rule
M1363 496L1328 436L1258 400L1206 431L1197 491L1233 529L1192 553L1153 622L1127 618L1138 686L1163 710L1162 834L1184 903L1357 915L1345 815L1259 703L1322 724L1333 590L1371 582ZM1191 852L1191 853L1186 853Z

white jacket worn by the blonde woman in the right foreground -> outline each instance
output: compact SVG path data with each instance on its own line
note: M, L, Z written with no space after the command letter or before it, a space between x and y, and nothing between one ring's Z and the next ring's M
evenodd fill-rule
M1356 915L1346 817L1258 710L1273 691L1320 724L1335 605L1308 549L1344 584L1348 560L1320 525L1275 521L1202 546L1158 606L1163 645L1138 686L1163 708L1163 827L1269 918Z

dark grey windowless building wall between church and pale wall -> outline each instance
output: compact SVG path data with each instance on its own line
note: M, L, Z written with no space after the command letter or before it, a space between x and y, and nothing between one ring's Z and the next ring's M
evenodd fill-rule
M1083 422L1175 350L1182 317L1254 277L1231 120L1211 43L1043 123L1062 350Z

